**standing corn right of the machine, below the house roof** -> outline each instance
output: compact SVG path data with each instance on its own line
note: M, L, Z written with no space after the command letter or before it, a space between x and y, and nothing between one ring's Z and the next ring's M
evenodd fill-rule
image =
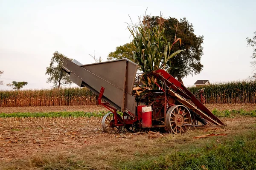
M256 81L215 83L209 86L188 88L193 94L204 89L207 104L256 103Z

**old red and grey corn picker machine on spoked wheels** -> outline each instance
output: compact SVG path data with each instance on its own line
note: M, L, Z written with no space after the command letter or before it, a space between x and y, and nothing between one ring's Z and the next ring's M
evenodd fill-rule
M224 126L182 83L164 70L150 73L156 80L157 90L133 96L138 65L128 59L81 65L65 58L62 68L74 83L97 94L99 104L110 111L102 119L105 132L119 133L125 127L130 132L160 128L185 133L190 127Z

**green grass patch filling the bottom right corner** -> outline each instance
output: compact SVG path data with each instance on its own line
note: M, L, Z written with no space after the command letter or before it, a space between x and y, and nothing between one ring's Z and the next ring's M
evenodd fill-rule
M198 139L196 143L178 144L157 155L134 153L135 159L119 161L127 170L254 170L256 169L256 132L235 137ZM154 147L154 146L152 146ZM175 151L178 150L178 151Z

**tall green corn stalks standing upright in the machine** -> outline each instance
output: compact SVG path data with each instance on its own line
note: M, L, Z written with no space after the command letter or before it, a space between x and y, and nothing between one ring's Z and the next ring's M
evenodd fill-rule
M145 17L144 17L145 18ZM138 26L128 26L133 37L133 43L136 47L134 51L134 61L138 63L140 70L143 71L142 82L150 89L156 89L154 85L156 79L150 75L157 69L166 69L167 62L183 50L171 53L172 46L181 39L174 37L174 42L167 42L163 28L163 17L160 17L158 25L151 27L149 24L150 17L146 16L143 22L140 20ZM137 93L138 94L138 93Z

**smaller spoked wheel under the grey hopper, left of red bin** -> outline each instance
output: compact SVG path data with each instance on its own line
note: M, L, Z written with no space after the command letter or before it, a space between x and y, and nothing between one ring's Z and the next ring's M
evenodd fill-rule
M122 119L119 114L117 114L117 116L119 117L119 119ZM119 120L117 122L121 123L119 122ZM114 113L109 112L105 114L105 116L102 119L102 129L104 130L104 132L107 132L110 134L119 133L122 130L122 126L115 126L114 124L115 124Z

